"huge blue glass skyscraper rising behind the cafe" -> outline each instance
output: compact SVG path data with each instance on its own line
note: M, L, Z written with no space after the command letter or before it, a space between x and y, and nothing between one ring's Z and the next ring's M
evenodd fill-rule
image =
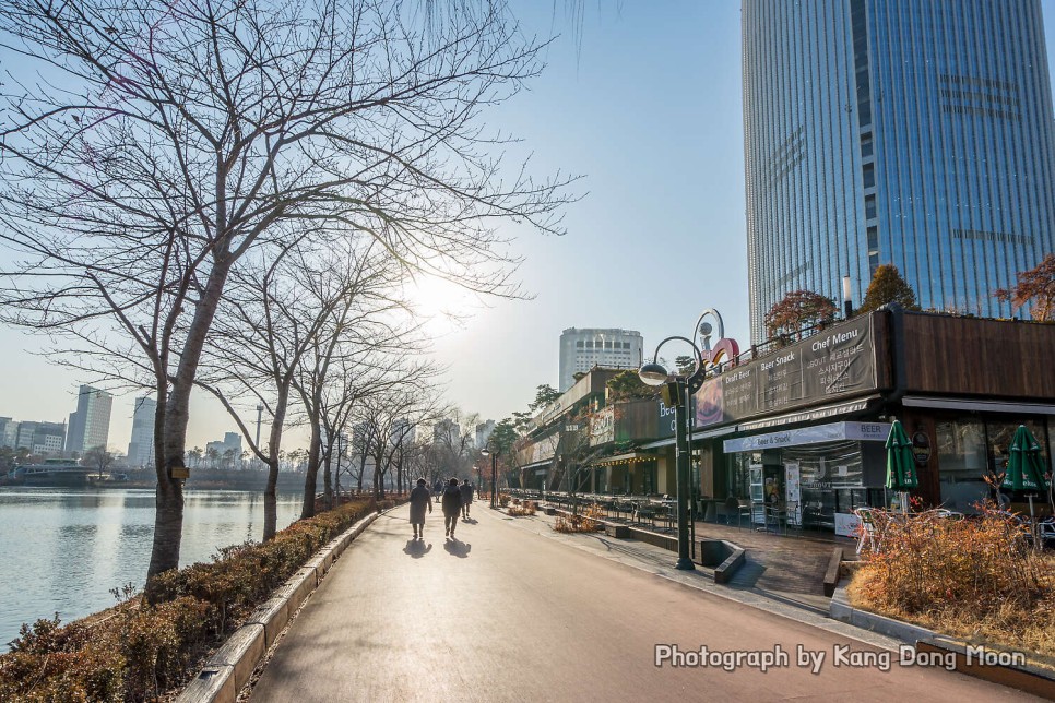
M789 291L860 303L893 264L924 309L993 296L1055 251L1039 0L744 0L751 341Z

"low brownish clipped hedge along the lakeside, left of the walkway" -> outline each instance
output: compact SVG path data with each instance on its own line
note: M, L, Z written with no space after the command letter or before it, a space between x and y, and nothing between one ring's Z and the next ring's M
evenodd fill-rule
M155 605L131 585L106 617L22 625L0 655L0 701L144 701L179 688L208 651L333 537L394 504L360 501L294 523L266 544L221 549L212 563L165 572Z

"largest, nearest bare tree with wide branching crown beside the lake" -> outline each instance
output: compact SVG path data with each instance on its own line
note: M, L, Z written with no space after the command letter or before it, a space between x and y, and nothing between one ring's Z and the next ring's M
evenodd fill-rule
M191 389L235 263L310 222L485 293L514 294L496 223L560 233L569 180L494 156L479 122L540 71L503 3L0 3L8 322L152 388L147 576L179 563ZM503 179L503 176L511 178ZM69 347L68 347L69 348Z

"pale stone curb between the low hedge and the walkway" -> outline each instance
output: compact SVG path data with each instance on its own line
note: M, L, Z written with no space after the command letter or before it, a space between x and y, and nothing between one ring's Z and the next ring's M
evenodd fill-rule
M392 509L389 509L392 510ZM388 511L384 511L388 512ZM331 539L235 630L187 684L177 703L235 703L257 663L348 545L382 513L372 512Z

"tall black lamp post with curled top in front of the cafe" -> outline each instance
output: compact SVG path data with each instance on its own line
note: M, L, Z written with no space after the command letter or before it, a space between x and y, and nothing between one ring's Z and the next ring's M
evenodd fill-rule
M713 314L718 318L719 326L722 326L721 317L718 314L716 310L704 310L703 314L696 323L692 336L700 331L700 325L703 322L703 318L709 314ZM710 330L707 330L704 334L708 334ZM723 336L723 332L719 333ZM660 359L660 348L671 342L672 339L678 339L680 342L686 342L690 347L692 347L692 354L696 359L696 370L685 377L675 376L674 380L671 380L671 374L659 362ZM689 510L688 510L688 498L689 498L689 474L691 472L690 466L690 452L692 448L689 446L689 432L691 427L689 425L689 402L691 396L700 390L703 385L703 378L707 376L707 362L703 360L703 355L700 348L696 345L695 339L688 339L686 337L672 336L663 339L655 347L655 353L652 355L652 362L645 364L638 371L638 376L641 380L649 385L666 385L664 389L664 396L666 397L669 405L674 406L674 437L675 437L675 474L677 475L677 520L678 520L678 561L675 564L676 569L681 571L692 571L696 565L692 563L692 559L689 557Z

